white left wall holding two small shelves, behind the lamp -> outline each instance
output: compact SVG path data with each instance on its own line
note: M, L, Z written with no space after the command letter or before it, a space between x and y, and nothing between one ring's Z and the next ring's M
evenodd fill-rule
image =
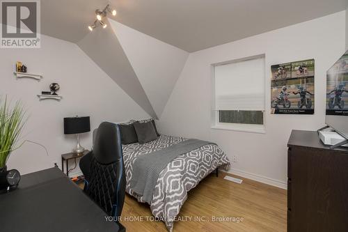
M15 62L22 61L28 72L44 76L35 79L16 79ZM61 154L68 153L76 143L74 136L63 134L63 118L90 116L91 128L102 121L127 121L147 118L139 105L129 98L113 80L91 61L77 45L48 36L41 37L40 49L0 49L0 96L22 100L29 114L22 139L44 145L48 152L35 144L24 144L10 156L8 167L24 173L61 167ZM56 100L38 100L37 94L49 90L49 84L58 82L63 96ZM81 145L90 148L92 132L83 134ZM79 171L78 169L75 170Z

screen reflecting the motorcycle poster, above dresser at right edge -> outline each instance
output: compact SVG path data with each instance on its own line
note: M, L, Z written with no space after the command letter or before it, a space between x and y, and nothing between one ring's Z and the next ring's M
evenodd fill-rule
M326 115L348 116L348 51L326 73Z

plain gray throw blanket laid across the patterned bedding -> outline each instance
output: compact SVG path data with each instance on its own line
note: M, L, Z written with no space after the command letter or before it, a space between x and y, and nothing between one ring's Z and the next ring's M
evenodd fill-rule
M196 150L207 144L214 143L198 139L188 139L168 148L156 150L148 155L138 157L133 164L130 186L136 194L143 196L143 200L150 204L159 173L161 173L167 164L178 155Z

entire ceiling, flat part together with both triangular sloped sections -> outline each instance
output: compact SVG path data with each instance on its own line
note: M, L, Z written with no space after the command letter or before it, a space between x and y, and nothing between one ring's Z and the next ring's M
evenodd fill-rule
M113 17L117 22L110 20L106 29L90 32L87 26L95 20L95 9L106 6L105 0L41 0L41 33L77 43L138 105L157 118L187 52L345 10L347 0L110 2L118 10ZM112 102L105 104L112 107Z

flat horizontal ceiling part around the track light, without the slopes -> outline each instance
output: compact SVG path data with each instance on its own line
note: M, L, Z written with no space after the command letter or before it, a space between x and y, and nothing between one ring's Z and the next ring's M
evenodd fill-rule
M112 0L118 22L194 52L345 10L347 0ZM42 33L78 42L105 0L41 0Z

